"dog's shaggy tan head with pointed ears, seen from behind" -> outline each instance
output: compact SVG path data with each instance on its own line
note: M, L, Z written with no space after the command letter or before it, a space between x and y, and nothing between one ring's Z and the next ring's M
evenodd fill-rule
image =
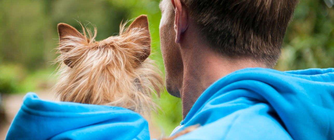
M157 106L152 94L164 89L161 71L147 58L151 38L146 15L128 29L100 42L82 26L83 34L59 23L58 82L53 91L61 101L119 106L138 113ZM86 33L88 32L88 35ZM155 92L156 91L156 92Z

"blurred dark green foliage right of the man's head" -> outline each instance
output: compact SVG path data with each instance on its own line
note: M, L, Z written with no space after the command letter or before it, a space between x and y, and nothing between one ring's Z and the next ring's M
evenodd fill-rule
M275 69L334 67L334 9L322 0L301 1L288 27Z

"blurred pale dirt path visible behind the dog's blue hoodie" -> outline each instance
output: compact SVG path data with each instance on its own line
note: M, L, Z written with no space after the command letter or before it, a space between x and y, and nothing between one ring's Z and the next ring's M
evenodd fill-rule
M50 91L39 91L36 92L39 98L44 100L54 100L53 96L50 95ZM22 104L22 99L25 94L10 94L4 95L2 98L2 107L4 109L5 121L0 122L0 140L5 140L10 122L13 120L15 114L20 109ZM145 117L149 123L151 139L158 139L161 136L160 129L154 126L149 117Z

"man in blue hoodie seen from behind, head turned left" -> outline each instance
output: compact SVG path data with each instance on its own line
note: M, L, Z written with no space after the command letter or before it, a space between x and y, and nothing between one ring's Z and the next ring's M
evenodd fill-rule
M334 139L334 69L273 70L298 0L162 0L177 140Z

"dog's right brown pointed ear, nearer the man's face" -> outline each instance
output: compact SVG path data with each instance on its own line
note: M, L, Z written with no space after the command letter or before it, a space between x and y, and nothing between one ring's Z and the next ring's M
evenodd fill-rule
M143 49L143 52L140 55L137 55L138 60L143 62L151 54L151 34L150 34L150 30L149 30L147 15L140 15L139 17L137 17L130 24L130 26L127 29L126 32L128 32L129 30L131 30L133 28L144 29L144 30L142 30L143 33L144 33L143 34L144 37L141 37L141 39L138 40L139 42L136 42L136 43L139 43L139 44L145 46L145 49Z

